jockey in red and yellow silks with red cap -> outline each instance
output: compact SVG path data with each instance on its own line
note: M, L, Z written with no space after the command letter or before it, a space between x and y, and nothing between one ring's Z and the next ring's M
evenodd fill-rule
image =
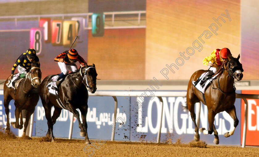
M209 79L209 77L213 76L218 68L224 63L228 61L228 55L232 56L230 50L228 48L215 49L210 56L205 57L203 60L204 65L208 65L210 67L210 72L202 79L200 85L204 85L205 81Z

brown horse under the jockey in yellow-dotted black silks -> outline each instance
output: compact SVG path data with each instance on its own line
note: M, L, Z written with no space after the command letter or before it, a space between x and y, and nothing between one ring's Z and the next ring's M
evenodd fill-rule
M23 136L26 134L27 126L31 114L34 113L35 106L39 101L39 85L41 82L41 71L39 64L32 63L31 70L27 73L26 77L21 80L19 86L14 91L13 88L8 88L5 81L4 85L4 106L6 112L6 132L10 131L10 122L9 122L9 103L14 99L15 105L15 123L11 123L14 128L23 128L23 118L22 110L27 110L26 120L24 123ZM20 125L19 125L19 116L20 116Z

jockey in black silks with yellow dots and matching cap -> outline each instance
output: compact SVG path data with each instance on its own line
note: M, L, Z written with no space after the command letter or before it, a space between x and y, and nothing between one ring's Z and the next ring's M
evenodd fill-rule
M28 49L26 53L23 53L14 63L14 66L11 71L11 75L9 76L8 80L12 78L14 75L14 70L18 67L18 72L20 73L20 77L18 77L13 82L13 86L16 81L18 81L20 78L23 78L26 76L27 72L31 69L31 63L39 63L39 58L36 56L35 49Z

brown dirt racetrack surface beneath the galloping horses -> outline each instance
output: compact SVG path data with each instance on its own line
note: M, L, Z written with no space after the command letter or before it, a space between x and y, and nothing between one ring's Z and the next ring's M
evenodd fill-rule
M181 143L133 143L117 141L91 140L93 144L87 146L81 139L56 138L55 142L48 142L43 137L15 137L0 136L0 156L259 156L258 147L229 147L207 146L205 142ZM105 143L104 143L105 142ZM93 152L94 151L94 152ZM91 155L92 154L92 155Z

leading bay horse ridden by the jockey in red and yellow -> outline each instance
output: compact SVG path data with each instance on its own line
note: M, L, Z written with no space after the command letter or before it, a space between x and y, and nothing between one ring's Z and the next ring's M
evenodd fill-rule
M196 81L202 73L206 72L206 70L198 70L194 72L191 76L191 79L187 88L187 107L191 113L192 121L195 126L195 141L199 141L199 130L204 134L212 134L214 132L215 138L214 143L219 144L218 132L214 125L214 118L216 114L226 111L231 118L234 120L234 129L230 132L226 132L224 134L225 137L229 137L234 133L236 126L238 125L238 119L236 117L236 108L234 106L236 100L236 93L234 88L234 79L240 81L243 77L242 72L244 71L242 68L242 64L239 62L240 55L237 58L232 56L228 56L228 62L224 62L219 72L222 74L217 76L205 91L205 100L204 102L203 95L198 89L194 87L192 81ZM208 108L208 123L209 128L206 130L205 128L198 129L197 124L195 122L196 115L194 112L195 103L201 101L203 104L207 105Z

